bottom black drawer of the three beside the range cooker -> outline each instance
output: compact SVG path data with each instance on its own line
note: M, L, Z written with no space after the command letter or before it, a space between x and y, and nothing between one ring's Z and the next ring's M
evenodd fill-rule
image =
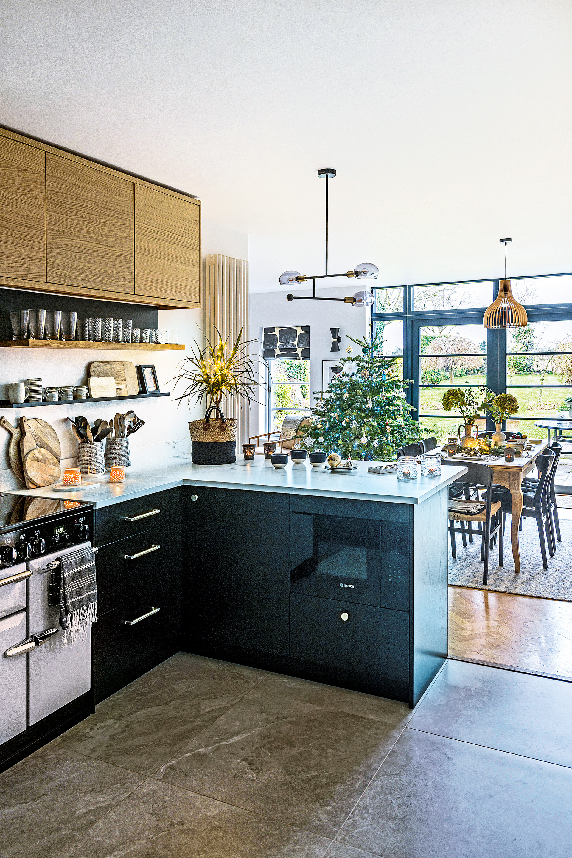
M159 613L125 625L146 613L133 607L117 607L93 625L93 696L98 704L178 650L169 605L157 605Z

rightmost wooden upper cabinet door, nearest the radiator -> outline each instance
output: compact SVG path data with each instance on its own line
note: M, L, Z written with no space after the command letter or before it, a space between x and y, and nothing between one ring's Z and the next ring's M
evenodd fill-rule
M135 295L201 303L201 208L135 185Z

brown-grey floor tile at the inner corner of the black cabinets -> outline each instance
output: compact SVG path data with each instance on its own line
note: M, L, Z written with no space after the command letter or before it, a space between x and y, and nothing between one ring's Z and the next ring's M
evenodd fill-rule
M98 704L57 742L150 775L265 676L262 671L178 653Z

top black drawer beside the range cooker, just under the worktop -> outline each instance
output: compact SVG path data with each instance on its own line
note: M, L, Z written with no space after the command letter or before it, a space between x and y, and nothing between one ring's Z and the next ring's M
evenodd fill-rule
M101 547L152 528L179 529L182 504L183 494L178 487L100 510L96 508L94 544Z

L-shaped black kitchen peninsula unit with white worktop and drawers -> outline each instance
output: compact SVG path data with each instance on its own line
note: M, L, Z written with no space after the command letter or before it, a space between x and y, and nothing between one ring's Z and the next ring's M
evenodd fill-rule
M465 468L400 483L367 465L178 456L81 492L99 547L96 703L182 649L414 706L447 656L448 486Z

